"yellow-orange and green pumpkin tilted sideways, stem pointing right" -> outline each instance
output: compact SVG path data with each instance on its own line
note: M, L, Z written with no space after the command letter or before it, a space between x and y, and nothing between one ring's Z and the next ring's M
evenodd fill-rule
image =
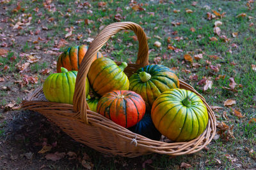
M126 62L120 66L106 57L96 59L88 72L88 79L94 92L103 96L113 90L129 90L129 80L124 73Z

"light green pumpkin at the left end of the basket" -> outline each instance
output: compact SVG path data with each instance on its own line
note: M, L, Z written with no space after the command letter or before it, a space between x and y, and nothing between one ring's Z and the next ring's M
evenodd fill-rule
M68 71L61 67L61 73L49 75L44 81L43 92L48 101L73 104L77 71ZM89 81L86 78L86 96L89 93Z

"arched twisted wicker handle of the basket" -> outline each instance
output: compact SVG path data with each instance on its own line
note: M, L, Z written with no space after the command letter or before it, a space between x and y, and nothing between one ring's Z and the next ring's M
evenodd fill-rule
M134 22L115 22L106 26L92 41L80 66L76 77L76 86L73 96L74 110L79 114L84 123L88 123L87 108L85 97L86 75L93 62L94 55L102 48L111 36L122 30L131 29L136 34L139 41L139 50L136 64L141 67L148 65L148 43L147 36L140 25Z

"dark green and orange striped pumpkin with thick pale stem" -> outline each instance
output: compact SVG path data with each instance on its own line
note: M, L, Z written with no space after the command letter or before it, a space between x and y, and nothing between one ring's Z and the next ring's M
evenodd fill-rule
M179 88L179 79L171 69L161 65L141 67L129 78L132 90L140 94L146 106L152 106L155 99L164 91Z

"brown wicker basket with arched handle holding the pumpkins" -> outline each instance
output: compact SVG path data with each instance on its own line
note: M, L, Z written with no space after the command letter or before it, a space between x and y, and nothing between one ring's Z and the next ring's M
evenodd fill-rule
M188 142L166 143L154 141L131 132L99 113L87 109L84 82L92 64L93 56L111 36L118 31L126 29L131 29L135 32L139 41L139 50L136 64L128 64L124 70L125 74L131 76L139 67L146 66L148 64L147 36L140 25L133 22L110 24L93 40L81 62L76 78L73 105L49 102L45 99L42 88L39 88L26 97L25 101L22 102L22 108L24 110L38 111L76 141L102 153L112 153L123 157L138 157L149 153L184 155L202 150L214 137L216 117L204 97L184 81L180 80L180 88L191 90L200 96L205 106L207 106L209 114L209 122L204 133Z

